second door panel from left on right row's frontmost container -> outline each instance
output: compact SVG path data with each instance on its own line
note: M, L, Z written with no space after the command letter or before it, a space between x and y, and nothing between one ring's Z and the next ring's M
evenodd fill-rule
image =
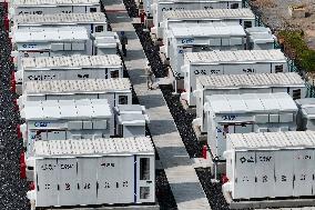
M256 190L255 198L273 197L274 194L274 151L256 151Z

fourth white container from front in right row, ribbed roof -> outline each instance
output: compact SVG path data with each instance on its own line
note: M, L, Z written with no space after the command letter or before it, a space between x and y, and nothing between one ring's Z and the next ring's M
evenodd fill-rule
M200 76L278 73L288 72L288 67L281 50L187 52L184 53L182 72L185 88L182 98L189 100L196 90ZM190 100L195 103L194 98Z

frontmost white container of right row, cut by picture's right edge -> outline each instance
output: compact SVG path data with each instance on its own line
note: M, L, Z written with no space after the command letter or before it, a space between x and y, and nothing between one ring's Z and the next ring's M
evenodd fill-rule
M226 143L232 199L314 196L315 132L234 133Z

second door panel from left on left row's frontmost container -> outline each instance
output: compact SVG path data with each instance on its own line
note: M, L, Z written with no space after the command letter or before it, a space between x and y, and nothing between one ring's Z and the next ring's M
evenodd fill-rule
M75 206L78 200L77 159L58 159L59 167L59 204Z

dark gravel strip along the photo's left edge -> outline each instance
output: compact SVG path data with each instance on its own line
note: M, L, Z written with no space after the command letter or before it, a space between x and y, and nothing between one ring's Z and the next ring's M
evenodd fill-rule
M0 7L0 209L30 209L26 197L28 183L20 179L19 158L22 142L17 139L19 113L14 111L13 96L10 92L10 74L12 63L8 33L3 31L3 10Z

